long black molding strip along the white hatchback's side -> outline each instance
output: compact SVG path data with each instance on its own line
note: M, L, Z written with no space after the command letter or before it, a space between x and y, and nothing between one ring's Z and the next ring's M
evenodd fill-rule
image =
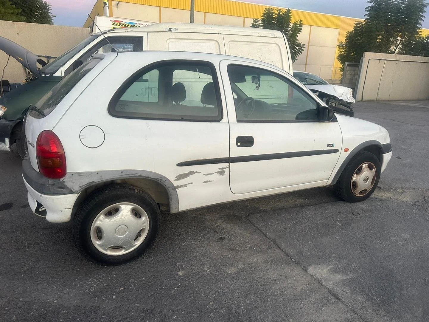
M326 149L326 150L283 152L283 153L270 153L270 154L258 154L258 155L243 155L243 156L232 157L232 158L213 158L213 159L183 161L183 162L179 162L176 165L178 167L186 167L190 165L201 165L201 164L251 162L251 161L262 161L262 160L308 157L311 155L323 155L323 154L331 154L331 153L338 153L338 152L339 152L338 149Z

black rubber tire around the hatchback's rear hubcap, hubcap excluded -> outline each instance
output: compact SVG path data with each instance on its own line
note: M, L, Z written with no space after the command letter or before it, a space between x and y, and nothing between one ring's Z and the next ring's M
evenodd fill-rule
M142 243L131 252L107 255L98 250L91 241L91 225L106 207L127 202L141 207L149 219L148 233ZM160 226L160 210L155 200L133 185L110 185L90 194L79 207L73 221L73 239L79 251L89 260L102 265L120 265L142 255L155 240Z

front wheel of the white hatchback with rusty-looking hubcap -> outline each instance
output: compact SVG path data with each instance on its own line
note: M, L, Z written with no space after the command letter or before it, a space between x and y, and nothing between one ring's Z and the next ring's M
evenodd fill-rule
M335 183L338 196L348 202L367 199L377 188L380 170L380 161L375 155L367 151L358 152Z

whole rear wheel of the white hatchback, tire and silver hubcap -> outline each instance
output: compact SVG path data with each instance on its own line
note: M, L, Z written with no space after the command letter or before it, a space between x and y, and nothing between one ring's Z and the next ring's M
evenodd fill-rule
M73 222L79 251L97 264L124 264L154 241L160 210L153 198L132 185L112 185L91 194Z

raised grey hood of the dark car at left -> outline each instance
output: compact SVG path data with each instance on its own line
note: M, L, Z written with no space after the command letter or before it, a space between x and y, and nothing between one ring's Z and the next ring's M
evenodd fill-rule
M5 52L7 55L11 55L18 62L20 62L22 66L30 70L30 72L36 76L40 76L40 71L39 68L37 68L37 64L42 66L46 64L45 61L38 58L29 50L4 37L0 37L0 50L3 50L3 52Z

